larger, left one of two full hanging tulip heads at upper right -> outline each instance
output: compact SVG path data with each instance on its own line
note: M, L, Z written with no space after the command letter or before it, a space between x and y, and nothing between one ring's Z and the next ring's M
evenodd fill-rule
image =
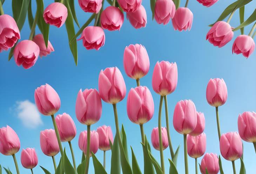
M234 32L227 22L218 21L208 31L206 40L220 48L226 45L233 38L233 35Z

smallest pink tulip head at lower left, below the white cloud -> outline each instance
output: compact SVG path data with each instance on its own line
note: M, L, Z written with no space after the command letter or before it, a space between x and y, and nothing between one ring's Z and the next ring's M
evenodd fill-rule
M22 149L21 164L25 168L34 168L38 164L38 158L34 148Z

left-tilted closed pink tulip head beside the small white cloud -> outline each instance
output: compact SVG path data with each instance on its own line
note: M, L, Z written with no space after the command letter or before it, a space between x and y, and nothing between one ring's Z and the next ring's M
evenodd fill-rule
M41 85L35 90L35 104L43 115L53 115L60 108L60 97L52 86Z

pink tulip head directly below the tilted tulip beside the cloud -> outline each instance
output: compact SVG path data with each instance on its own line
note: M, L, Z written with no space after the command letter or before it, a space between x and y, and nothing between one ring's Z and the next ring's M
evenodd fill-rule
M40 132L40 146L42 152L49 157L53 157L60 152L55 130L45 129Z

